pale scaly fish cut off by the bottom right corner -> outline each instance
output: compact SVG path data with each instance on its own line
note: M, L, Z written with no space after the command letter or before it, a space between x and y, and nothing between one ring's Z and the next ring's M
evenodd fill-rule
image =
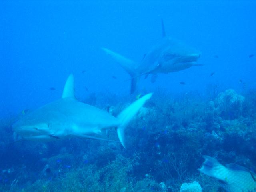
M236 164L224 166L215 158L203 157L204 163L198 170L224 182L228 187L228 192L251 192L256 189L256 174L249 169Z

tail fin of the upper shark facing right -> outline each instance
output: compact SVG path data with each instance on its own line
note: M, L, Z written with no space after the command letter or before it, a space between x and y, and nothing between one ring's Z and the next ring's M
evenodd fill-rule
M112 56L112 58L114 58L114 60L116 60L122 66L122 68L124 68L130 74L130 76L132 77L131 94L134 93L136 90L136 84L138 82L139 76L139 74L137 74L135 70L136 62L125 58L124 56L121 56L120 54L117 54L107 48L102 48L102 50L104 50L106 54Z

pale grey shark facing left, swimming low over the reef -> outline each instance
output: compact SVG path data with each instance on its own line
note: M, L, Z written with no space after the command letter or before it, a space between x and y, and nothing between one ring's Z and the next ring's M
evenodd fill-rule
M72 137L105 140L92 135L116 128L118 138L125 148L124 130L151 96L152 93L146 94L114 117L104 110L76 100L74 76L70 74L59 100L26 114L12 128L22 138L36 141Z

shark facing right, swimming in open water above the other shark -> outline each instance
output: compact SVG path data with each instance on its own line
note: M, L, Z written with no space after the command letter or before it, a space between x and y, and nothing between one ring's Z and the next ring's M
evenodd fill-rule
M185 70L196 64L200 51L186 45L180 40L166 36L162 20L162 40L152 47L141 62L134 62L107 48L102 48L106 54L112 56L131 76L131 94L136 90L139 77L152 74L151 82L156 80L158 73L170 73Z

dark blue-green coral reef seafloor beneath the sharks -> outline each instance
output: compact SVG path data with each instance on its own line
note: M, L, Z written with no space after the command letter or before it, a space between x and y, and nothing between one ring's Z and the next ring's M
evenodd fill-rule
M160 92L129 124L127 149L80 138L14 142L11 126L23 114L1 119L0 191L178 192L197 181L205 192L221 192L221 183L198 171L203 155L256 168L255 91ZM80 100L116 115L129 98L102 93ZM103 137L118 140L114 129Z

